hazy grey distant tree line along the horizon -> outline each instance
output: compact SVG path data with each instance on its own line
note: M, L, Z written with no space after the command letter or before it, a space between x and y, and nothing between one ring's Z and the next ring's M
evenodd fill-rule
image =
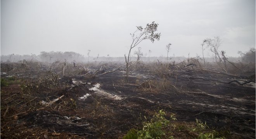
M138 52L138 51L137 51ZM151 53L151 51L149 51ZM149 54L150 54L149 53ZM240 54L240 57L228 57L228 59L232 62L242 62L242 63L255 63L255 48L251 48L249 51L247 52L242 52L239 51L238 52ZM141 53L138 53L141 54ZM146 56L142 56L140 55L140 61L144 61L144 62L154 62L157 61L157 59L159 61L166 61L166 56L160 56L160 57L156 57L156 56L151 56L149 59L150 55ZM55 62L55 61L65 61L65 59L68 62L88 62L88 57L87 56L83 56L79 53L75 53L75 52L41 52L39 55L36 54L25 54L25 55L19 55L19 54L9 54L9 55L1 55L1 62L18 62L18 61L22 61L23 59L25 60L32 60L32 61L41 61L41 62ZM137 61L138 56L137 53L135 52L135 56L131 56L131 61ZM179 63L181 61L186 60L187 58L185 56L170 56L168 57L168 59L170 59L171 61L175 61L176 63ZM123 62L124 58L123 57L110 57L108 56L100 56L100 57L91 57L89 62L95 62L97 60L97 62L100 61L117 61L117 62ZM214 58L205 58L205 61L207 62L214 62L215 59Z

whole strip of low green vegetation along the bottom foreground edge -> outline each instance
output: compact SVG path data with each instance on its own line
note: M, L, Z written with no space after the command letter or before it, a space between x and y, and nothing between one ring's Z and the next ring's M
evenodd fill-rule
M142 122L142 129L130 129L123 139L174 139L188 137L189 139L225 139L223 133L211 129L206 122L195 119L190 124L170 122L163 110L159 110L150 121ZM177 120L171 114L170 120ZM187 136L189 134L189 136ZM173 136L175 135L175 137ZM226 134L228 135L228 134Z

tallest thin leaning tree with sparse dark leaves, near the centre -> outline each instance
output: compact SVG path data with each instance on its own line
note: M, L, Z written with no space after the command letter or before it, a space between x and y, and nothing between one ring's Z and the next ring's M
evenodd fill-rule
M132 38L132 43L130 46L130 50L128 53L128 58L126 58L125 55L125 62L126 62L126 81L128 82L128 68L129 68L129 60L130 60L130 54L131 54L131 49L136 47L140 42L143 40L149 39L152 43L155 40L159 40L161 33L156 33L157 31L158 24L155 22L152 22L151 24L147 24L145 28L142 28L142 26L137 26L137 30L133 32L131 35Z

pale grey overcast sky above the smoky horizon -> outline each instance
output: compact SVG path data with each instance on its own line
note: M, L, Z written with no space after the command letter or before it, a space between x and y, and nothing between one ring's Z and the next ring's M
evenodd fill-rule
M155 21L159 41L144 54L202 55L201 43L219 36L227 56L255 48L255 0L1 0L1 55L73 51L128 54L130 33ZM137 48L133 49L133 51ZM212 56L210 52L205 56Z

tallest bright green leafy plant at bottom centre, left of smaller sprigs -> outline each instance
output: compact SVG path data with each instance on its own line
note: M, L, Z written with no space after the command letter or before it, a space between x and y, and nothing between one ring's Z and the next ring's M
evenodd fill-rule
M156 113L150 121L142 122L143 128L141 130L131 129L123 139L161 139L161 136L165 135L162 127L166 127L170 123L165 116L165 112L159 110L159 113ZM173 114L171 120L176 120Z

